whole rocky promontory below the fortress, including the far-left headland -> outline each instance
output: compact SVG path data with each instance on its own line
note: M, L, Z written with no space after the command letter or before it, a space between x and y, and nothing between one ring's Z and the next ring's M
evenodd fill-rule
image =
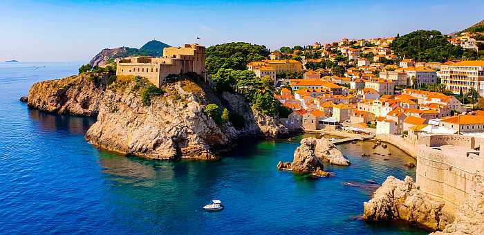
M86 139L102 149L160 160L216 160L243 136L281 137L279 120L252 110L241 95L218 95L189 79L170 82L163 94L143 101L149 82L118 77L107 84L104 73L66 77L34 84L28 106L58 114L95 116ZM151 85L152 86L152 85ZM146 94L145 94L146 95ZM146 97L145 97L146 99ZM203 107L217 104L239 115L243 126L216 122Z

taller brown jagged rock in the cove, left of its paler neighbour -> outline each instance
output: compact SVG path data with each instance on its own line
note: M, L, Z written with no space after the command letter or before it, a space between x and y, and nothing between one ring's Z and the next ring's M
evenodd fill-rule
M315 138L301 140L301 146L297 147L292 160L292 170L299 172L315 172L316 169L323 169L323 163L315 155Z

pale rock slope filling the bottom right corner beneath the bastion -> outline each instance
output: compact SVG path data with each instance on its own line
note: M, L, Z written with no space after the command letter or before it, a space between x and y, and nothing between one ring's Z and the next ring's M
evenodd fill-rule
M484 234L484 184L476 185L476 190L460 205L454 222L442 232L433 234Z

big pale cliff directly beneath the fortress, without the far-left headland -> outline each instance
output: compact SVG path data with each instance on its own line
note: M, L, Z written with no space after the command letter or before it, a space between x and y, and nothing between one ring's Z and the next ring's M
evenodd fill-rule
M169 83L163 95L142 102L143 86L120 78L106 89L97 122L86 133L91 143L120 153L145 158L215 160L242 135L287 133L281 125L254 120L259 114L238 95L218 95L190 80ZM209 103L227 106L244 117L243 128L217 123L203 112ZM226 103L226 104L224 104ZM249 114L248 114L249 113ZM252 115L252 118L250 118ZM270 119L270 118L266 118ZM259 131L257 131L259 130Z

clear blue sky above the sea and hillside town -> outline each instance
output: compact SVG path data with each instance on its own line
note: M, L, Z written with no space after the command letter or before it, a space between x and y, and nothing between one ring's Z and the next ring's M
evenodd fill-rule
M0 1L0 62L88 62L103 48L230 41L281 46L455 32L484 1Z

